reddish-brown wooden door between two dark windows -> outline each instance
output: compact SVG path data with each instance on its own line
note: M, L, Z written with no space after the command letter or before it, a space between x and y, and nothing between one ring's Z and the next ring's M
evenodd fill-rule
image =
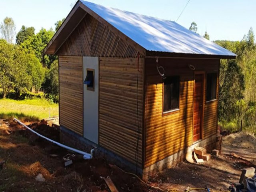
M193 142L202 139L203 100L204 100L204 74L195 74Z

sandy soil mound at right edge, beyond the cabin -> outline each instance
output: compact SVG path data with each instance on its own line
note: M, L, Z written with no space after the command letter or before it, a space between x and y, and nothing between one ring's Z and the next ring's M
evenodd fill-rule
M223 144L256 149L256 138L253 134L238 132L223 138Z

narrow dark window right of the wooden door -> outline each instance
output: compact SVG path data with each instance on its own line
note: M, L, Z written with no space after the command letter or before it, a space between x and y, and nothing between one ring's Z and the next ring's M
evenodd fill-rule
M206 85L206 101L216 99L216 87L217 87L217 74L207 74L207 85Z

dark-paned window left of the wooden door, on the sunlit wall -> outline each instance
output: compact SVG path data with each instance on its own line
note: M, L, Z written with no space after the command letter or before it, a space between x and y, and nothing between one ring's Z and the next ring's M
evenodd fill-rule
M180 77L170 76L164 79L164 104L163 112L169 112L179 108Z

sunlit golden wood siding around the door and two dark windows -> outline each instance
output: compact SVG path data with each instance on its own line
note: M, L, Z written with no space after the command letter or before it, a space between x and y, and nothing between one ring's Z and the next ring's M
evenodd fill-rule
M160 58L158 66L164 67L166 76L180 76L180 110L162 115L163 81L156 70L156 59L146 59L144 167L192 145L194 71L188 68L188 64L193 64L196 71L205 71L206 74L207 72L218 73L219 60ZM202 122L203 139L216 134L217 130L218 102L216 100L206 103L205 99L206 82L204 122Z

